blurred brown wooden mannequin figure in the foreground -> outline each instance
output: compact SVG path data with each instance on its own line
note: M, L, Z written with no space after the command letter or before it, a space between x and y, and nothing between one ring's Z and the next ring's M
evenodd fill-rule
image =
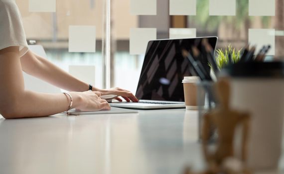
M239 112L230 108L230 86L227 80L222 79L217 82L217 97L219 105L206 113L203 117L202 126L202 149L207 162L208 171L206 174L227 173L235 174L224 169L227 159L234 158L234 133L237 126L243 126L241 160L245 164L247 159L247 138L249 130L250 116L248 113ZM209 152L208 140L210 138L211 127L214 126L218 133L216 151ZM242 167L243 168L243 167ZM225 171L224 171L225 170ZM240 169L241 173L248 173L246 169Z

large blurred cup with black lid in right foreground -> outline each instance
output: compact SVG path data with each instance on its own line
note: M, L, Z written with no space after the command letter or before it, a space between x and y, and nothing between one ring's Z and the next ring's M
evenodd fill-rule
M277 169L283 147L284 62L239 63L222 71L231 79L231 107L251 115L246 165L254 171Z

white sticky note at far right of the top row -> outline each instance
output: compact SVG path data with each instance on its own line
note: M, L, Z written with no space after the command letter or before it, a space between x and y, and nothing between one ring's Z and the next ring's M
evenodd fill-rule
M275 0L249 0L250 16L275 16Z

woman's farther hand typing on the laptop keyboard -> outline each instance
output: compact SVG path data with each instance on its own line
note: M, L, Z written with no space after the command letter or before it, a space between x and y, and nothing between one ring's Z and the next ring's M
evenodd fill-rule
M113 87L110 89L98 89L98 88L93 87L93 90L101 92L102 95L113 94L113 95L122 96L127 102L130 102L130 101L138 102L139 101L137 97L131 91L125 90L119 87ZM115 99L118 101L122 101L120 97L117 97Z

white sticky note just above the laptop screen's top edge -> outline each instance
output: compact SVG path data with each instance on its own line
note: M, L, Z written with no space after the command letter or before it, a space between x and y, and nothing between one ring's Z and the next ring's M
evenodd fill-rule
M196 37L196 28L170 28L170 39L192 38Z

